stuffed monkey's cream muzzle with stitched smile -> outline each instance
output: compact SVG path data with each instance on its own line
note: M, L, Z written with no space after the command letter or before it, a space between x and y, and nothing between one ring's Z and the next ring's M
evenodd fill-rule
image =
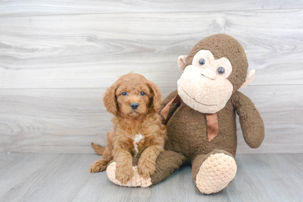
M209 68L188 65L177 81L184 103L201 113L216 113L224 108L233 93L233 85Z

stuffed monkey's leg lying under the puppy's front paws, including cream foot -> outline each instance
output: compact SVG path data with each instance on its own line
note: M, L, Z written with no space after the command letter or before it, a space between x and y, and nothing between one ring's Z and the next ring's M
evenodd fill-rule
M156 171L154 175L143 178L138 172L139 158L133 158L134 176L126 184L121 184L119 180L115 179L116 162L110 162L106 172L109 179L120 186L126 187L149 187L166 179L169 175L178 169L186 161L186 157L180 153L173 151L163 151L156 160Z

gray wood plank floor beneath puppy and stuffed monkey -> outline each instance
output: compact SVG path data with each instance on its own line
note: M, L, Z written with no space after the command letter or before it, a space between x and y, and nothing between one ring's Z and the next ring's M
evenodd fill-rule
M191 167L149 188L113 184L89 173L93 154L0 153L0 201L302 201L303 154L241 154L227 188L202 195Z

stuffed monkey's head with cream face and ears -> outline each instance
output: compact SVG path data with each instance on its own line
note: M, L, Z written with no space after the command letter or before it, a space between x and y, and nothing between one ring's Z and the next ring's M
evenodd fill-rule
M247 72L248 62L241 44L225 34L199 41L187 56L178 58L182 72L178 94L184 103L202 113L216 113L231 95L245 88L255 70Z

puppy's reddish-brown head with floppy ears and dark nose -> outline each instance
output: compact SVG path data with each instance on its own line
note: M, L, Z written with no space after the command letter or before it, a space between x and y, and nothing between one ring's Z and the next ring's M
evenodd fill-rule
M129 73L106 90L103 101L107 111L113 115L120 112L129 117L139 117L160 109L161 93L141 74Z

